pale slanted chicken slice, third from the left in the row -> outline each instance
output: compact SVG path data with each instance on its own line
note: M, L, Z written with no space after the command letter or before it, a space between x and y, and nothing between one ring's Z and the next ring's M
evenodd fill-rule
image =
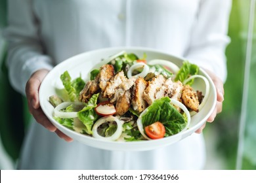
M102 90L102 97L112 97L112 95L114 95L114 93L116 92L118 86L126 80L127 78L125 77L123 71L117 73L107 82L105 90Z

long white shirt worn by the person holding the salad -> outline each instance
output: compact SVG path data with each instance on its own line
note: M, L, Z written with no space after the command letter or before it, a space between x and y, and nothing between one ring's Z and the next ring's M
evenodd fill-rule
M156 48L225 80L230 5L230 0L9 0L11 84L25 93L37 69L112 46ZM204 156L202 135L153 151L110 152L64 142L34 123L20 169L202 169Z

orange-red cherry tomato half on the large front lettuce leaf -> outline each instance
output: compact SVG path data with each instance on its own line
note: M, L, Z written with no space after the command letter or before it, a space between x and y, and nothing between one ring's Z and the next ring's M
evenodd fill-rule
M155 122L154 124L146 126L145 132L150 139L161 139L165 135L165 127L161 122Z

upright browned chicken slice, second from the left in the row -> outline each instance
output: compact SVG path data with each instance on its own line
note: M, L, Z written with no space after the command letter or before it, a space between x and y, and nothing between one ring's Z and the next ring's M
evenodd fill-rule
M99 74L99 86L102 91L105 90L107 86L107 82L114 76L114 66L105 64L100 67L100 74Z

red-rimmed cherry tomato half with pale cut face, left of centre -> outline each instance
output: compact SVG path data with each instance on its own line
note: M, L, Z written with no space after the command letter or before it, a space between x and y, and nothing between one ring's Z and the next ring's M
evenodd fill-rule
M114 104L110 103L110 101L104 101L102 103L98 103L95 107L95 111L100 116L108 116L116 113L116 108Z

